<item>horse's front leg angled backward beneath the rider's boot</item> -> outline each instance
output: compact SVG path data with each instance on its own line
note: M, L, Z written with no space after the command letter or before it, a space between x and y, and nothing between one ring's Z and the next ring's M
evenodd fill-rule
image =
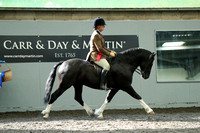
M107 106L107 104L112 100L112 98L114 97L114 95L118 92L118 89L111 89L109 90L107 97L104 101L104 103L101 105L101 107L99 109L95 110L95 115L97 116L98 119L103 119L103 111L105 109L105 107Z

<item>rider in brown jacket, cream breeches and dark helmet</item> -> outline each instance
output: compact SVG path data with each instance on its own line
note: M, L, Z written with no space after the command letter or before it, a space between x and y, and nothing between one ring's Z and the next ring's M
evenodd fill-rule
M105 21L101 17L97 17L93 21L94 32L90 37L90 52L87 55L87 60L90 62L94 62L98 66L101 66L101 81L100 88L107 89L106 86L106 76L108 71L110 70L110 64L107 62L107 56L115 56L115 52L107 49L104 46L104 36L102 35L102 31L105 28Z

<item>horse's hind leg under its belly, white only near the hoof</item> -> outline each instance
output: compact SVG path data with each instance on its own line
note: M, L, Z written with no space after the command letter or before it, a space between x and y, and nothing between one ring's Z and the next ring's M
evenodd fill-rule
M83 106L83 108L86 110L87 114L89 116L92 116L94 114L94 112L92 111L92 109L83 102L82 99L82 90L83 90L83 85L74 85L74 90L75 90L75 96L74 99Z

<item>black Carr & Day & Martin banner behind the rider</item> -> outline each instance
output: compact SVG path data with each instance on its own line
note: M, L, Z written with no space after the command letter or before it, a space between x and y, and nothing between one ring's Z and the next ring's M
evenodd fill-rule
M105 47L116 52L139 47L136 35L105 36ZM90 36L0 36L0 60L6 62L58 62L85 59Z

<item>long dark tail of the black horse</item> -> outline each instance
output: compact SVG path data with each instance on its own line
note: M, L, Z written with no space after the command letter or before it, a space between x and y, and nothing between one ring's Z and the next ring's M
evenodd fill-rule
M53 83L56 77L56 69L59 65L61 65L64 61L59 62L58 64L54 65L53 69L51 70L49 77L46 82L45 87L45 95L44 95L44 103L48 103L51 95L51 90L53 88Z

